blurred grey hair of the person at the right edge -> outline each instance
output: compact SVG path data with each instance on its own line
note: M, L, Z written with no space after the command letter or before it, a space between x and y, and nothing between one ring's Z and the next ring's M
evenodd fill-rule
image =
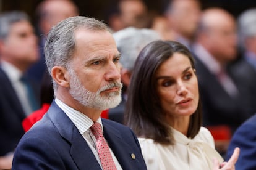
M244 41L250 36L256 36L256 8L247 9L237 18L239 42L244 47Z

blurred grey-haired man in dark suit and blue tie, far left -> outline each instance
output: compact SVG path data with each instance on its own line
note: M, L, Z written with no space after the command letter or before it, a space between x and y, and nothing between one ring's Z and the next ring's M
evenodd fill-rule
M39 108L39 86L25 76L38 46L27 14L5 12L0 25L0 156L6 156L24 134L22 120Z

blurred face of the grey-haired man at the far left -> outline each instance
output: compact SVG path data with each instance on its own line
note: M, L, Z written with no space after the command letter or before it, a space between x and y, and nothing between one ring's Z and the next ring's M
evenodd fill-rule
M37 38L25 20L12 24L3 44L2 55L14 65L28 67L38 60Z

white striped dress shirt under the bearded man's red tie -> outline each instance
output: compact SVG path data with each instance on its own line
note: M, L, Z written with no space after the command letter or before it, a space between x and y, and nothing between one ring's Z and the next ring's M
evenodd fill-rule
M74 110L74 108L69 107L58 98L55 98L55 102L59 106L59 108L61 108L64 111L64 113L66 113L66 115L70 118L70 120L75 124L75 127L77 127L77 129L79 130L80 134L83 136L83 138L87 142L88 146L93 152L93 155L95 156L96 160L101 166L100 157L96 150L96 138L95 136L93 136L93 133L90 130L90 127L93 125L92 119L88 118L88 116L84 115L80 111ZM101 118L99 118L96 122L100 123L101 128L103 130ZM119 164L116 156L114 156L114 153L110 147L109 147L109 150L114 160L114 164L116 165L116 168L122 169L121 165ZM102 169L102 166L101 166L101 169Z

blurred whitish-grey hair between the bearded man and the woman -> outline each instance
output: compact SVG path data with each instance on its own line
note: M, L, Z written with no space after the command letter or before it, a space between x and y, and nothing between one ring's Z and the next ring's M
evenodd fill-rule
M139 55L139 52L148 43L161 39L160 34L155 30L148 28L124 28L116 33L113 33L116 41L117 49L121 53L120 63L123 68L129 71L134 69L134 63Z

